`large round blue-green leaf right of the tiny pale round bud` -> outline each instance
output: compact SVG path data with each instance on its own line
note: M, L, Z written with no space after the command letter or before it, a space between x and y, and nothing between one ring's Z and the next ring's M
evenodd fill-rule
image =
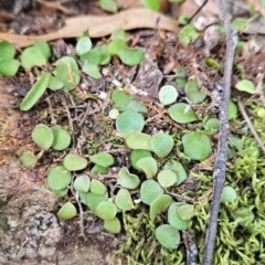
M125 138L132 132L141 132L144 126L144 116L130 109L121 113L116 119L116 128Z

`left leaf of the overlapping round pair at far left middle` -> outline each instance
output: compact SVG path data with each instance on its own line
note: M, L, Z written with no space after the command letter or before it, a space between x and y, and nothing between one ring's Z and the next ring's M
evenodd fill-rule
M43 150L47 150L52 146L54 139L53 130L44 124L36 125L31 136L34 142Z

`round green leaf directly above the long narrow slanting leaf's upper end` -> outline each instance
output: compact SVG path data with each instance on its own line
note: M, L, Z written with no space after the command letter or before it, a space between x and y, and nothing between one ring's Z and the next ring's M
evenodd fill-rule
M35 46L26 47L21 54L21 64L24 68L42 66L45 63L46 63L45 56Z

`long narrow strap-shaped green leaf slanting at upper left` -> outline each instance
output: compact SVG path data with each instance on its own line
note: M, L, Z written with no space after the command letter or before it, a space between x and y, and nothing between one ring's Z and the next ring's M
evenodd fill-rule
M34 104L40 99L40 97L45 93L50 76L50 73L42 72L36 83L31 87L31 89L28 92L26 96L20 104L20 109L22 112L31 109Z

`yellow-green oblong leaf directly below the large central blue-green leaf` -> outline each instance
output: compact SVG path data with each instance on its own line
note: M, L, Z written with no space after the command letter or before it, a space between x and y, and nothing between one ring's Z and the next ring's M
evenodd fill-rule
M130 149L151 150L151 137L147 134L135 132L126 137L126 145Z

